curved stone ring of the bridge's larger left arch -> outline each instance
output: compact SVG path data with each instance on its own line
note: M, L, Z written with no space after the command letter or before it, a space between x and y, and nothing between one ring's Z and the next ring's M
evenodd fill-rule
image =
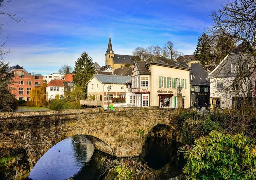
M101 133L93 132L91 130L71 130L66 133L62 133L59 135L56 135L52 139L50 139L47 142L47 146L40 147L40 152L34 152L28 150L27 156L28 161L30 163L30 171L33 169L34 165L39 161L39 159L43 156L44 153L46 153L50 148L52 148L54 145L56 145L58 142L75 135L86 135L86 137L91 141L91 143L94 145L94 148L105 152L110 155L114 155L112 148L110 147L111 141L103 136ZM108 144L108 143L110 144Z

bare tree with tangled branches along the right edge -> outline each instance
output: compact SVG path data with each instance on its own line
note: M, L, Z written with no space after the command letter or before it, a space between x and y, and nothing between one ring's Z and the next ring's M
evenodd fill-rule
M208 33L212 39L221 38L220 44L229 48L230 52L224 59L222 50L216 54L215 62L222 61L210 73L213 79L210 83L217 86L213 96L226 97L222 103L229 107L227 117L222 121L229 133L244 132L255 136L256 1L234 0L223 5L222 9L213 11L211 18L213 26L208 29ZM230 40L238 42L239 46L229 46Z

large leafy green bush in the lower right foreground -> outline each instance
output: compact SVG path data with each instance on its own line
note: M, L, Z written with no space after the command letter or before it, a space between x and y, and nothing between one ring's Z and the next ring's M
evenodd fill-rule
M256 141L242 133L212 131L182 152L186 179L256 179Z

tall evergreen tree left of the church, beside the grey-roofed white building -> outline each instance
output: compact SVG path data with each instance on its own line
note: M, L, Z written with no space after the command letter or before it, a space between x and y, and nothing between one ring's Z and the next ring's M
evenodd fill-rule
M86 52L83 52L75 62L73 80L77 86L83 89L85 99L87 98L86 83L91 79L94 72L92 64L92 58Z

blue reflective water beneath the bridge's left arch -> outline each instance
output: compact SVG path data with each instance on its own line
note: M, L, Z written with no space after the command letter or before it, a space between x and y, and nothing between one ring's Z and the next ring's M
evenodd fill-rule
M69 137L54 145L39 159L29 179L103 179L106 173L100 159L105 156L105 153L94 149L85 135Z

